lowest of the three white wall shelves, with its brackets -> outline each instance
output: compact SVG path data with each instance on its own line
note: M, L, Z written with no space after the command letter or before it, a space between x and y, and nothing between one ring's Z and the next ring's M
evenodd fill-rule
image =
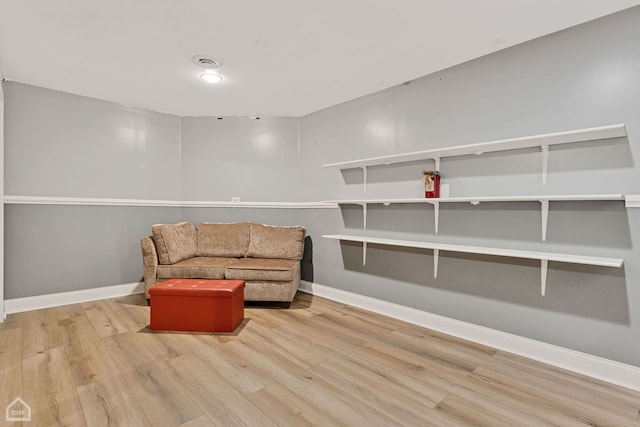
M433 277L438 277L438 258L440 251L450 252L463 252L473 253L481 255L494 255L510 258L524 258L535 259L540 261L540 292L544 296L547 286L547 267L549 261L566 262L572 264L586 264L595 265L601 267L622 267L624 260L622 258L606 258L606 257L594 257L586 255L573 255L563 254L556 252L539 252L539 251L524 251L516 249L503 249L503 248L491 248L484 246L464 246L464 245L451 245L436 242L419 242L413 240L395 240L395 239L382 239L377 237L363 237L352 236L345 234L327 234L322 237L334 240L344 240L349 242L362 243L362 264L366 265L366 250L367 243L373 243L378 245L387 246L400 246L408 248L421 248L433 250Z

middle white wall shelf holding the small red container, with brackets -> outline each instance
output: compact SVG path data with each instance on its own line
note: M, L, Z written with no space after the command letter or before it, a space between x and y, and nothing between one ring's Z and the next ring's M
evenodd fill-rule
M437 199L355 199L355 200L327 200L325 203L338 205L362 206L363 228L367 228L367 206L369 204L421 203L433 205L434 229L438 234L438 220L440 217L440 203L471 203L478 205L482 202L539 202L542 216L542 241L547 240L547 219L549 217L549 202L551 201L616 201L625 200L622 194L571 194L544 196L482 196L482 197L446 197Z

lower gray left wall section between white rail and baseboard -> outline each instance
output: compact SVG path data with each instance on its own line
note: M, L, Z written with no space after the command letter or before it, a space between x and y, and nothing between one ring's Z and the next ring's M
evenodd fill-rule
M5 298L143 280L140 238L178 208L7 205Z

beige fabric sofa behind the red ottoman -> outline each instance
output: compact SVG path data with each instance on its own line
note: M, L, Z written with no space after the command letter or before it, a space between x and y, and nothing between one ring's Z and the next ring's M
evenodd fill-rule
M149 288L167 279L244 280L245 301L289 303L300 284L305 229L254 223L156 224L143 237Z

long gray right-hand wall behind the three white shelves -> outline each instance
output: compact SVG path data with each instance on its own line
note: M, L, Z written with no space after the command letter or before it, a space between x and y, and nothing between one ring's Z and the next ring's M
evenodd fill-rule
M433 162L360 170L324 163L625 123L629 138L552 148L548 183L537 150L444 159L451 196L640 193L640 8L534 40L301 120L304 185L321 199L416 197ZM311 174L310 174L311 175ZM621 257L622 269L550 263L547 296L534 261L318 239L361 234L358 206L300 221L316 235L315 281L640 366L640 210L623 202L552 202L548 241L540 206L372 206L368 234L479 246ZM335 215L328 217L328 215ZM373 246L373 247L372 247Z

